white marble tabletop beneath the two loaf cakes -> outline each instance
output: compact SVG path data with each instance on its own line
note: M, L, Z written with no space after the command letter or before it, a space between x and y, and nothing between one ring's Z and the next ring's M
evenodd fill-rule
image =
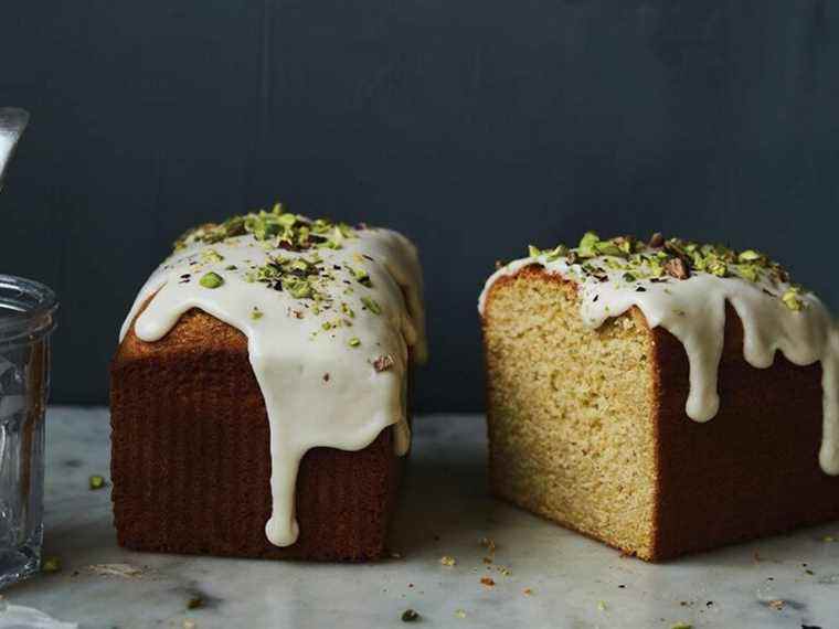
M91 475L108 473L107 411L52 408L45 552L63 567L3 595L84 628L368 629L401 627L413 608L420 627L839 629L839 541L826 541L839 540L839 522L649 565L489 498L482 417L427 416L415 426L393 542L402 558L322 565L119 548L108 491L88 489ZM484 536L497 543L490 565ZM457 564L440 565L443 555ZM89 567L102 564L139 574ZM485 576L495 587L481 585ZM188 610L195 596L203 606Z

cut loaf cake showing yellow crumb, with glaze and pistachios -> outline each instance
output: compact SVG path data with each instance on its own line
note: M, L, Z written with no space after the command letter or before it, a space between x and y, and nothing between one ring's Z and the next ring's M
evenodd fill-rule
M587 233L479 312L497 497L647 561L839 519L839 333L766 255Z

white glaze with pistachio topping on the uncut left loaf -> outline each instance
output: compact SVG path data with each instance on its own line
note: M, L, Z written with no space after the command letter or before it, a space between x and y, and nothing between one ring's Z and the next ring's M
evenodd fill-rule
M192 308L247 337L270 428L272 543L297 539L308 449L359 450L394 426L397 454L407 450L405 373L426 345L418 256L401 234L280 204L202 225L140 289L121 337L134 327L159 341Z

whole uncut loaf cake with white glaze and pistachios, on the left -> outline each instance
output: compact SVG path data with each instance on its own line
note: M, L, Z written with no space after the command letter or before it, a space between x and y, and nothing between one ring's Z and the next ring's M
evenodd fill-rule
M119 543L382 556L424 333L416 249L396 232L278 204L184 234L111 363Z

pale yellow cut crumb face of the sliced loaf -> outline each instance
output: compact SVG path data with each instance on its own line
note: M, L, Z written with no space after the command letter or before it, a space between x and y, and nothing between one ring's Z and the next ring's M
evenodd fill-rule
M628 553L656 534L651 335L636 311L592 330L577 286L538 266L484 310L492 492Z

